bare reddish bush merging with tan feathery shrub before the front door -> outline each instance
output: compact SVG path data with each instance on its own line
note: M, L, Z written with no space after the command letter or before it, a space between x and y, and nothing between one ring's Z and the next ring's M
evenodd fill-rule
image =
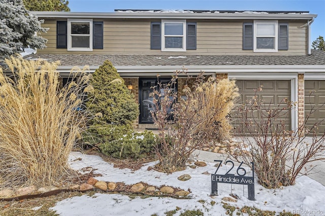
M183 72L175 71L169 84L156 86L152 93L155 106L152 118L160 139L155 154L159 168L166 172L183 169L194 150L231 137L227 116L238 97L234 81L206 80L202 72L193 90L187 87L183 90L185 97L177 98L175 85Z

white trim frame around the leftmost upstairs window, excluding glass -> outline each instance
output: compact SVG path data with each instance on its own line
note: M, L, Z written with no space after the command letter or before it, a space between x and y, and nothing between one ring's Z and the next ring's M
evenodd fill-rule
M71 22L89 22L89 48L74 48L71 41ZM78 34L84 36L88 34ZM68 19L68 51L92 51L92 19Z

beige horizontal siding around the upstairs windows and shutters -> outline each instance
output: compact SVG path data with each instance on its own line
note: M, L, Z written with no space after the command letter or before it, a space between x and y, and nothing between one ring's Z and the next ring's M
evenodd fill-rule
M62 20L62 19L60 19ZM94 20L98 21L98 20ZM157 21L157 20L156 20ZM211 21L188 20L197 22L197 49L187 50L188 54L216 55L305 55L307 53L307 25L305 21L289 21L289 50L277 53L254 53L242 50L243 22L245 21ZM105 53L105 54L184 54L184 52L161 52L150 49L150 20L104 20L104 49L91 52L67 51L56 49L56 20L45 20L48 39L47 48L39 53Z

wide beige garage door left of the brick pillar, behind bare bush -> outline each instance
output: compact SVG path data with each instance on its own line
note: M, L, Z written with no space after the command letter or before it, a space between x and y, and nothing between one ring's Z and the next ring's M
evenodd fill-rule
M238 101L239 104L245 103L246 100L252 99L254 96L254 89L263 86L263 91L258 92L258 98L265 101L265 104L276 106L283 98L290 100L290 80L237 80L236 84L239 88L241 97ZM285 105L283 105L285 106ZM291 115L290 111L285 111L281 118L277 119L275 124L280 124L280 121L285 121L286 129L291 129ZM233 125L236 127L237 133L242 133L245 128L240 125L238 114L233 116ZM261 116L256 115L255 118L260 119Z

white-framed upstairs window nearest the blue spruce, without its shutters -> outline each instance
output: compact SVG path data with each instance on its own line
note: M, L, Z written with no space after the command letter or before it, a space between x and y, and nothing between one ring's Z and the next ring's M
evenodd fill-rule
M92 51L92 20L68 19L68 51Z

